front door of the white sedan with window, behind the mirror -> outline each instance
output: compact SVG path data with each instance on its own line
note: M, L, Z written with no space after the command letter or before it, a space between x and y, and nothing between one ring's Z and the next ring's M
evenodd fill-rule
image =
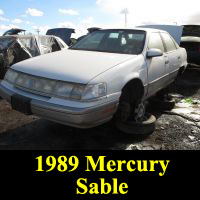
M157 91L162 89L166 85L167 81L167 69L168 57L165 55L165 48L161 39L160 33L151 33L148 41L148 49L160 49L163 52L163 56L147 58L148 66L148 95L152 96Z

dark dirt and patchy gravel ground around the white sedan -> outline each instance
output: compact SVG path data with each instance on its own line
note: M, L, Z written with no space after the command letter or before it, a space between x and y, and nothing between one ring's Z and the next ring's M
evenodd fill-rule
M80 130L11 110L0 100L1 149L200 149L200 68L188 69L170 92L177 105L172 113L153 111L156 131L133 137L117 131L112 123Z

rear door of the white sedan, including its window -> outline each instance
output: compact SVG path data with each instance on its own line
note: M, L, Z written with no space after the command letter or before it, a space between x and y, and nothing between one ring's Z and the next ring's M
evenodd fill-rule
M172 82L176 77L179 68L181 67L181 54L178 51L179 47L176 42L172 39L172 37L165 32L161 33L162 39L165 44L165 55L169 59L169 63L167 65L167 74L168 81Z

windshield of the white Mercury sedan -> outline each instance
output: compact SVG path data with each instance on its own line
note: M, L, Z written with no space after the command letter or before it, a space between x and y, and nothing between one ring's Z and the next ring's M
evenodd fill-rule
M145 31L140 30L100 30L87 35L70 49L137 55L143 51L145 37Z

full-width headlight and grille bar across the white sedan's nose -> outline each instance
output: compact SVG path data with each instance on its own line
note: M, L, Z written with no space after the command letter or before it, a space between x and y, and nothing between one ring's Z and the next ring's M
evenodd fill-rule
M40 93L49 97L60 97L74 100L94 100L107 94L106 83L84 85L67 83L36 77L14 70L8 70L5 80L16 85L16 87L27 89L32 93Z

